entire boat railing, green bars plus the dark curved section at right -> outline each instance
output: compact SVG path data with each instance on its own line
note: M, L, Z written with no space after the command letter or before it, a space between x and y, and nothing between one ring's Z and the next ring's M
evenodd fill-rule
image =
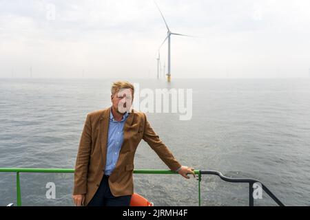
M0 168L1 172L16 173L16 188L17 188L17 206L21 206L21 183L19 181L19 173L74 173L74 169L65 168ZM178 174L172 170L134 170L137 174ZM253 186L255 183L260 183L262 190L267 192L267 195L273 199L279 206L284 206L284 204L274 195L262 182L257 179L249 178L230 178L225 177L222 173L216 170L194 170L196 179L198 179L198 206L201 205L200 196L200 181L201 175L217 175L220 179L224 181L233 183L247 183L249 184L249 206L254 206L253 197Z

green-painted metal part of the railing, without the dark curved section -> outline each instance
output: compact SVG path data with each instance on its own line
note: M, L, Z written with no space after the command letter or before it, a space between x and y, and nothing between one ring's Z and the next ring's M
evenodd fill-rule
M1 172L16 173L17 188L17 206L21 206L21 183L19 173L74 173L74 169L65 168L0 168ZM178 174L172 170L134 170L134 173L140 174ZM200 179L200 171L194 170L195 175ZM200 181L198 181L198 205L200 206Z

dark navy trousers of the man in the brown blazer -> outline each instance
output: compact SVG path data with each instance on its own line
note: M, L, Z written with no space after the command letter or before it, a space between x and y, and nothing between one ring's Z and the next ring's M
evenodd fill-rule
M87 206L130 206L132 195L114 197L110 191L110 186L106 175L103 175L98 190Z

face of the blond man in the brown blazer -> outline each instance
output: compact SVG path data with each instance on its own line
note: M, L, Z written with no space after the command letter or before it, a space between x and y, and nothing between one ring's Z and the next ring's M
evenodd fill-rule
M126 111L130 111L132 107L132 94L132 89L120 89L116 91L114 96L111 96L113 107L118 113L123 114Z

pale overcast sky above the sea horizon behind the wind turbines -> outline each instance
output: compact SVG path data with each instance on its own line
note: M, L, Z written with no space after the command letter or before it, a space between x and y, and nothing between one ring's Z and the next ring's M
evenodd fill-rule
M309 0L156 2L198 36L172 36L172 78L309 76ZM156 77L166 34L152 0L0 0L0 77Z

